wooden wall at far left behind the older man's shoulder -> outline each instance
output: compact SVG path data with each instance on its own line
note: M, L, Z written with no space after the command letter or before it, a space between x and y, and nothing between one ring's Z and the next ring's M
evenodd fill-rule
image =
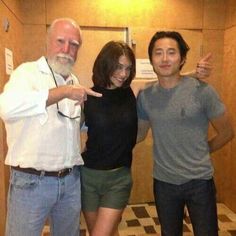
M8 32L3 29L4 19L10 22ZM9 48L14 52L14 64L18 65L22 62L22 37L23 25L22 15L20 11L20 3L16 0L0 1L0 91L8 80L5 73L5 48ZM4 225L6 216L6 197L9 171L4 166L6 154L6 136L4 125L0 121L0 235L4 235Z

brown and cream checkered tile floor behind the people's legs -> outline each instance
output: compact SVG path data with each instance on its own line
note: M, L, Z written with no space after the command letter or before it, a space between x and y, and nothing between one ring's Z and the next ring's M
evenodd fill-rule
M218 203L219 236L236 236L236 213L224 204ZM119 226L120 236L160 236L160 224L156 217L153 203L129 205L123 214ZM49 228L45 226L43 236L49 236ZM65 235L66 236L66 235ZM81 235L89 236L84 219L81 219ZM184 236L193 236L188 215L184 220Z

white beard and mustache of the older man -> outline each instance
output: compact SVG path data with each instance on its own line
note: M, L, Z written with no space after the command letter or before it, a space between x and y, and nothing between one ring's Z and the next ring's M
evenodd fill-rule
M52 58L48 58L48 63L57 74L69 76L75 62L71 56L59 53Z

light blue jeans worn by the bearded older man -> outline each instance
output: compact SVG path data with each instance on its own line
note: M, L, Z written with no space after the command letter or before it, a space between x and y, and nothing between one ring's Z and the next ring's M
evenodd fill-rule
M78 236L80 170L63 178L11 170L6 236L40 236L49 219L51 235Z

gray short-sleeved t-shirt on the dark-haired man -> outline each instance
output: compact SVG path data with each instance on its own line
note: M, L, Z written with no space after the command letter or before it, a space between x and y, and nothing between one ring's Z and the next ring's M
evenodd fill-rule
M212 177L209 120L225 106L210 85L186 77L171 89L155 84L140 93L137 109L151 124L155 179L183 184Z

